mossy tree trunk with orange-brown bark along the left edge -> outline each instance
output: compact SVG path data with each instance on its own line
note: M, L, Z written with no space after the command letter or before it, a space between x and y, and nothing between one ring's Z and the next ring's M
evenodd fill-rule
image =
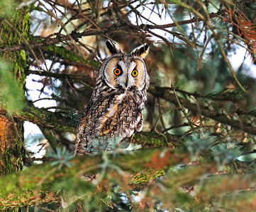
M0 28L0 47L23 44L24 40L28 40L30 33L28 9L19 9L9 18L3 19ZM4 52L0 54L0 59L10 64L9 71L24 90L28 66L26 52ZM8 175L22 169L25 158L23 140L23 121L9 114L0 114L0 175Z

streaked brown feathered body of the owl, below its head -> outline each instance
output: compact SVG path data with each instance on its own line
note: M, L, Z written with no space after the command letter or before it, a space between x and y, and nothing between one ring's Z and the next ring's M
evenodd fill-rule
M143 124L145 99L138 93L99 95L88 105L77 136L87 152L127 148Z

